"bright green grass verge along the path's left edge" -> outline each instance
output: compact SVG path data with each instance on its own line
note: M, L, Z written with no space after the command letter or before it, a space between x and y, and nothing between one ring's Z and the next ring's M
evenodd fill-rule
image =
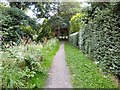
M45 68L45 73L38 73L29 81L29 85L35 85L34 88L44 88L46 84L46 79L48 77L48 71L51 67L51 63L54 55L59 49L60 42L56 43L52 48L44 47L42 53L44 54L44 60L41 63L41 66Z

